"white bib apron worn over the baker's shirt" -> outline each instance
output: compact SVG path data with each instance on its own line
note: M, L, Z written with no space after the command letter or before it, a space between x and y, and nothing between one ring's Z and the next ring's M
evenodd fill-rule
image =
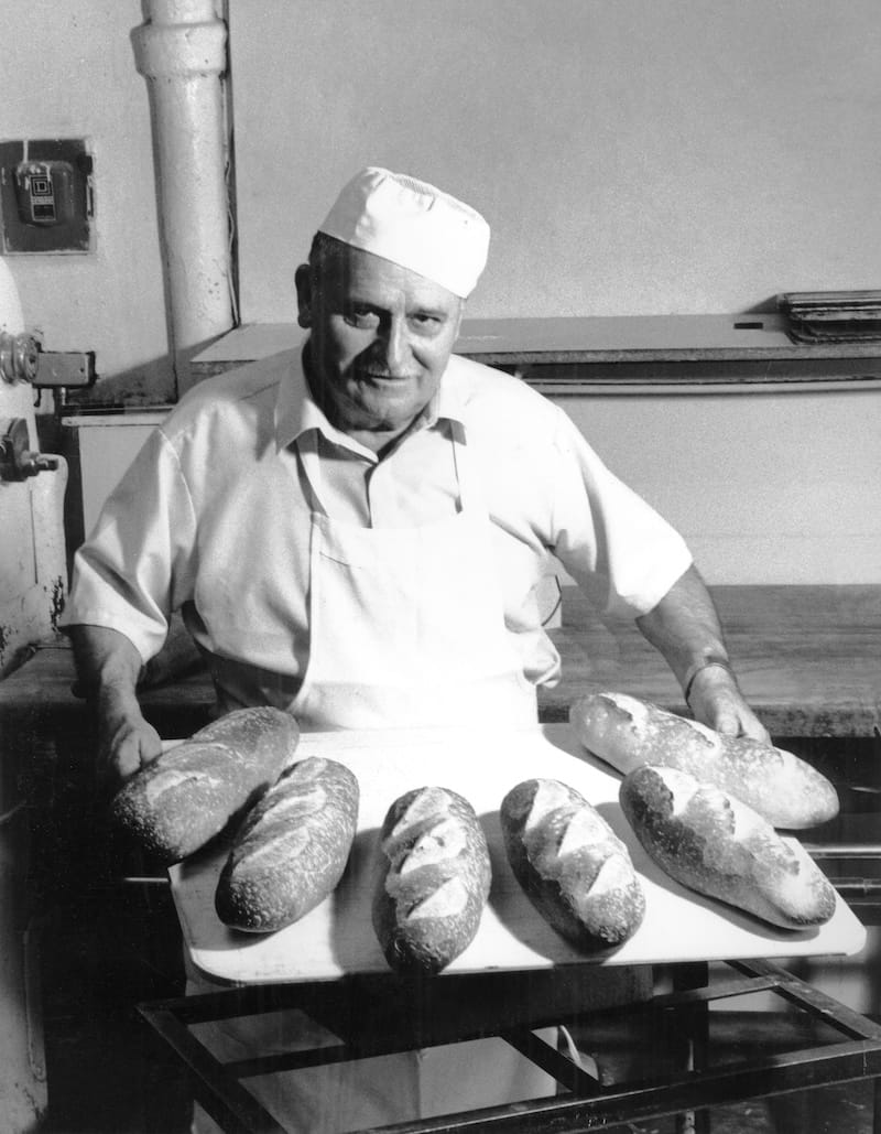
M290 712L306 729L512 726L535 688L505 627L492 527L467 446L454 442L459 510L420 527L359 527L321 506L314 434L310 660Z

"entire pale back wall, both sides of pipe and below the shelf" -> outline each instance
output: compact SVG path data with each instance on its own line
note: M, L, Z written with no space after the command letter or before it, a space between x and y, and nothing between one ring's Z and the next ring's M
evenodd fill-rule
M472 316L737 311L878 286L881 6L852 0L230 0L242 311L378 161L493 226ZM49 349L159 403L167 357L139 0L7 5L0 136L86 136L91 256L8 257ZM99 393L101 390L99 390ZM878 581L881 395L567 407L714 582Z

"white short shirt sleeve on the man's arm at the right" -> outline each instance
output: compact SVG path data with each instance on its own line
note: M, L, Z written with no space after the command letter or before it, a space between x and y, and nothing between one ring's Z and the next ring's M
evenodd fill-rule
M681 535L560 416L552 550L605 613L644 615L688 569L692 553Z

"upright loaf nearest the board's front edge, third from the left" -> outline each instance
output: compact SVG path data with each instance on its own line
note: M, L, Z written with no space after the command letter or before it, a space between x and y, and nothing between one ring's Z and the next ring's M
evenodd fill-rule
M467 799L421 787L380 831L373 929L400 973L437 973L471 945L490 892L490 852Z

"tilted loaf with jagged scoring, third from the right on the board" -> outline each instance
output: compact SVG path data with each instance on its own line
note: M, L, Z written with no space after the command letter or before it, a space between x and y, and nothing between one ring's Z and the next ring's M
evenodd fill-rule
M633 936L645 897L629 852L578 792L525 780L505 796L499 818L515 878L561 937L596 953Z

